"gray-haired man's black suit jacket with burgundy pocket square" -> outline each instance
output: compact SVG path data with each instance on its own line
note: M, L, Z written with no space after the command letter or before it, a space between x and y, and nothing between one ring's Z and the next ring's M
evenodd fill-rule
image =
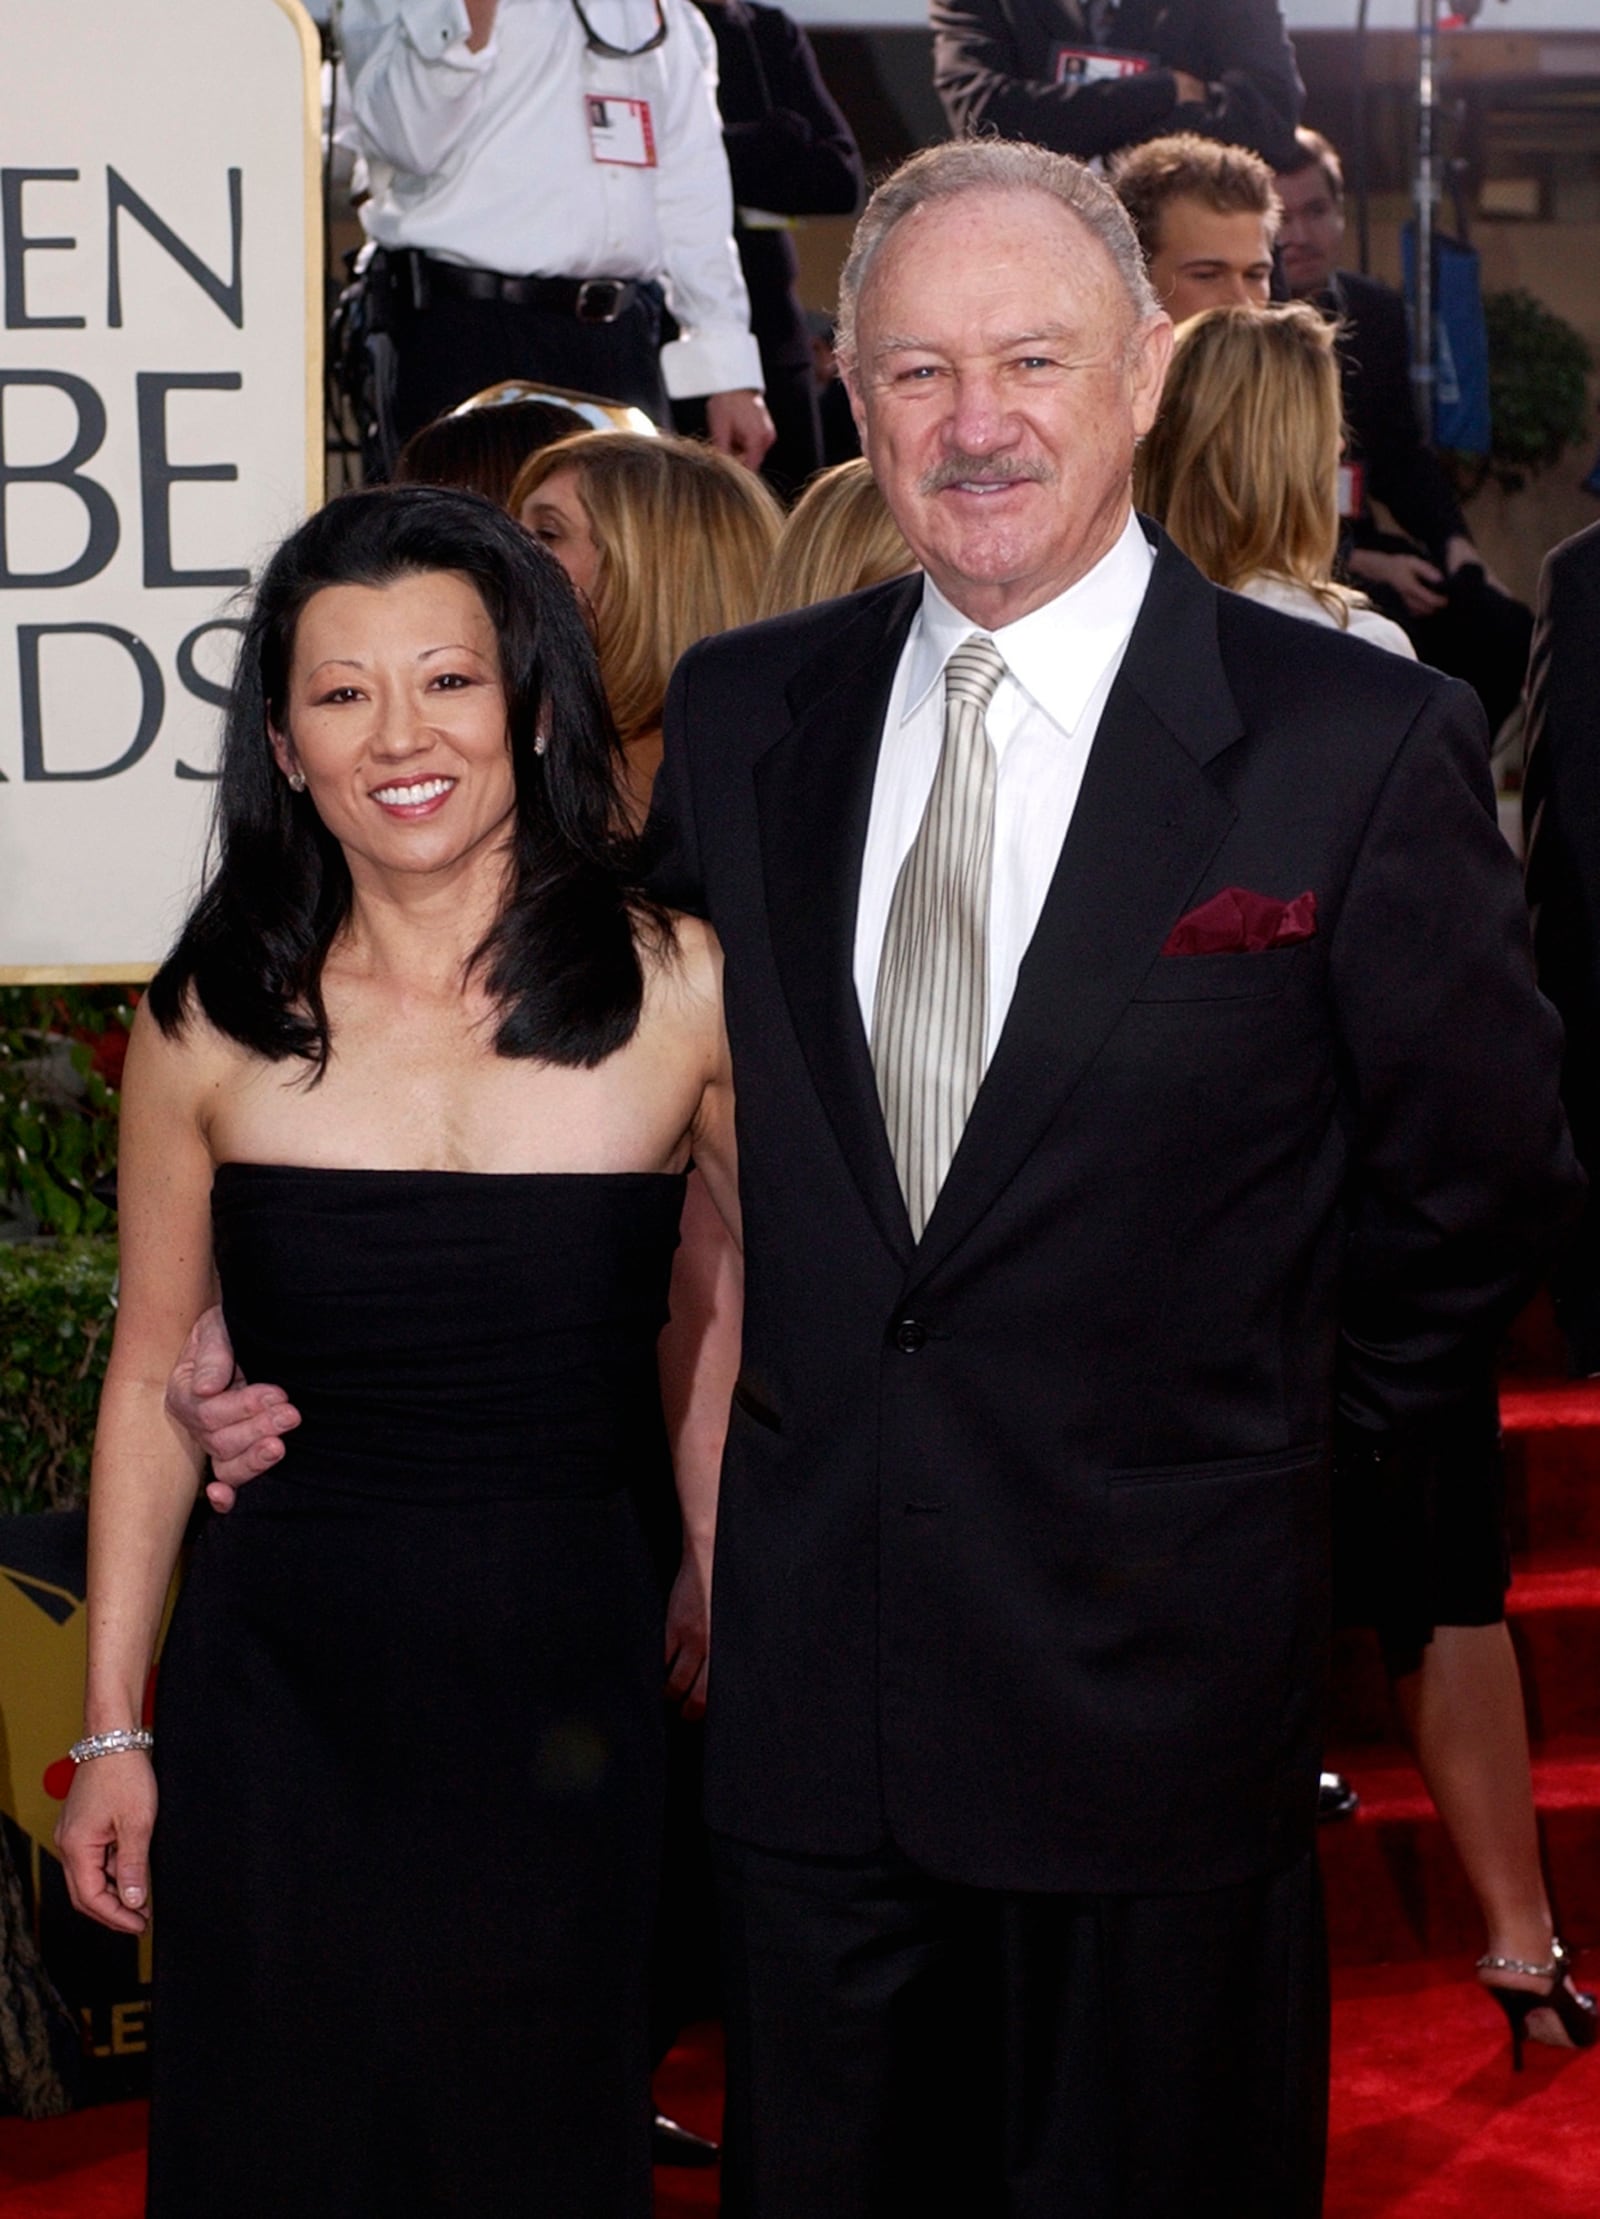
M1456 1396L1569 1212L1476 699L1161 544L994 1061L912 1240L852 985L919 579L695 648L664 890L726 950L746 1354L712 1824L1161 1893L1305 1844L1329 1438ZM1243 885L1316 936L1163 956ZM1336 1316L1345 1305L1345 1340Z

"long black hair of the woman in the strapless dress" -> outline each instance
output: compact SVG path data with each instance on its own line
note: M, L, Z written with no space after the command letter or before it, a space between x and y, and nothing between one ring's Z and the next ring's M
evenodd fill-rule
M637 936L664 943L668 925L639 883L639 843L621 830L621 754L577 599L493 501L435 486L340 495L262 573L226 712L213 863L151 981L164 1032L182 1030L193 996L255 1054L326 1070L322 965L351 914L351 872L311 797L288 790L269 726L288 732L295 626L315 592L428 570L455 570L482 595L506 688L510 868L506 903L473 956L499 1007L495 1047L595 1065L632 1038Z

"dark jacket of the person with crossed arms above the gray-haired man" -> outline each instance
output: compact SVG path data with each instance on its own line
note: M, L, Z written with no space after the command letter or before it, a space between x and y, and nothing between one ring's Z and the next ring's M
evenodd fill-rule
M1274 169L1298 158L1303 87L1276 0L1123 0L1101 44L1154 53L1161 69L1105 84L1056 84L1059 47L1092 47L1083 0L930 0L934 87L956 138L999 131L1054 153L1136 146L1163 131L1254 146ZM1216 87L1178 102L1174 69Z

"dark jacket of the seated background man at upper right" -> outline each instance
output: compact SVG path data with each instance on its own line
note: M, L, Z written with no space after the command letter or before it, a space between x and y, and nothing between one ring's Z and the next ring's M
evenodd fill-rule
M1338 271L1329 306L1340 317L1345 424L1351 450L1367 470L1367 493L1442 564L1445 541L1456 533L1465 535L1467 519L1445 464L1425 444L1416 422L1405 300L1376 277ZM1378 528L1365 517L1356 528L1356 544L1378 537Z

